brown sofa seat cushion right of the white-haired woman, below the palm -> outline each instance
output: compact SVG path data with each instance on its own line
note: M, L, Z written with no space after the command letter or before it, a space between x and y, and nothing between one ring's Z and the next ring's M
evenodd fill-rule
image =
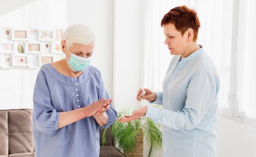
M126 157L115 146L100 146L99 157Z

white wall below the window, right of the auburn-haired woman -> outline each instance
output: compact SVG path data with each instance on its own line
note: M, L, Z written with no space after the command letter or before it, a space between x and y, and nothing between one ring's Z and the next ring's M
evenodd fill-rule
M256 157L256 128L218 116L217 157Z

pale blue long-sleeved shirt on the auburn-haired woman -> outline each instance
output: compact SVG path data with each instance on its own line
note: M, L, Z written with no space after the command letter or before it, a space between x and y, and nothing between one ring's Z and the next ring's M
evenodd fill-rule
M173 57L163 92L151 102L163 109L148 106L145 115L163 125L163 157L216 157L219 88L218 72L203 48Z

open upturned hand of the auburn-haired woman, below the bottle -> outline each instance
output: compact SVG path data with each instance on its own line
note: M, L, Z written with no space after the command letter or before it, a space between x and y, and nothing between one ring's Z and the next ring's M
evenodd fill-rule
M132 112L132 115L125 115L125 118L118 119L118 122L130 122L135 119L139 119L140 117L143 117L146 115L148 111L148 106L143 106L139 108L138 110L135 110Z

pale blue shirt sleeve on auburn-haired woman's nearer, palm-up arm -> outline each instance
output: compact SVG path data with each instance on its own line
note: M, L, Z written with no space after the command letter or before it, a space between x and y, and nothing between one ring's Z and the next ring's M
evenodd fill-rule
M191 80L182 111L171 111L148 106L146 117L175 130L192 130L205 116L216 99L216 82L208 73Z

